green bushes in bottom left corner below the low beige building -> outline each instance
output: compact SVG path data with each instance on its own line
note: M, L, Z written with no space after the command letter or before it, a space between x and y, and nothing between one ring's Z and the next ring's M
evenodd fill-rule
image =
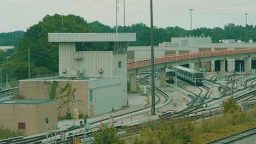
M12 131L8 128L4 128L3 126L0 127L0 140L16 137L16 136L22 136L24 133L22 131Z

